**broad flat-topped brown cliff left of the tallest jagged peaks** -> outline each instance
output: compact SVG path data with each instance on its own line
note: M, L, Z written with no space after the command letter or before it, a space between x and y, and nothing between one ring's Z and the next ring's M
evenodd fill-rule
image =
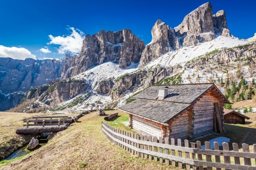
M107 61L119 64L126 68L132 62L137 63L143 49L143 40L137 38L130 30L100 31L94 35L86 35L79 57L75 59L75 67L70 68L68 76L75 76L86 71L93 65Z

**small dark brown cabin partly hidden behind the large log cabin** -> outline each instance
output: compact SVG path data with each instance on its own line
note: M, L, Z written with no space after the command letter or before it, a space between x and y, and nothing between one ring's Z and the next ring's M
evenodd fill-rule
M250 119L250 117L238 113L237 111L224 109L224 123L245 124L245 119Z

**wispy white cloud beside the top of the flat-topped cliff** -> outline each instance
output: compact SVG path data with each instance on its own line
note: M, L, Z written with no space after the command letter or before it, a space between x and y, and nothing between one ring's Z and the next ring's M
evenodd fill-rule
M59 54L65 54L66 52L79 53L81 51L84 33L73 27L70 27L69 29L72 30L72 34L67 36L53 37L52 35L49 35L51 41L48 44L60 45L57 49Z

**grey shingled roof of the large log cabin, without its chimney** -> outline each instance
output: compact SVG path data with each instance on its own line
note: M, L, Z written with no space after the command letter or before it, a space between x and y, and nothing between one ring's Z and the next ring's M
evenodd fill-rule
M168 96L163 100L157 100L158 91L168 87ZM200 96L211 88L221 94L212 83L180 84L180 85L152 85L141 93L133 96L136 99L119 110L165 124L184 110L189 108ZM228 100L221 94L225 102Z

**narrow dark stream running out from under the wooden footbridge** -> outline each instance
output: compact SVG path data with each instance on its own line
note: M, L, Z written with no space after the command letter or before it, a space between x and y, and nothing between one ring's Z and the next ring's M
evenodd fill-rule
M34 149L32 150L28 150L27 149L27 145L28 144L25 144L23 147L15 150L11 155L9 155L6 159L4 160L10 160L10 159L15 159L15 158L18 158L20 156L23 156L23 155L26 155L27 153L30 153L34 150L37 150L38 148L44 146L47 144L48 140L47 140L47 137L49 136L50 133L42 133L41 135L39 136L36 136L36 139L39 140L39 145L37 147L35 147Z

